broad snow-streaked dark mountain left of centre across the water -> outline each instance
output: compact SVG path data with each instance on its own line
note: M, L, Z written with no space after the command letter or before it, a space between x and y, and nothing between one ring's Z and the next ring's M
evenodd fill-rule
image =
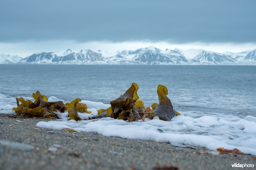
M80 50L74 51L71 49L65 52L41 52L30 55L19 63L62 63L62 64L96 64L105 62L105 58L100 54L93 52L92 50Z

